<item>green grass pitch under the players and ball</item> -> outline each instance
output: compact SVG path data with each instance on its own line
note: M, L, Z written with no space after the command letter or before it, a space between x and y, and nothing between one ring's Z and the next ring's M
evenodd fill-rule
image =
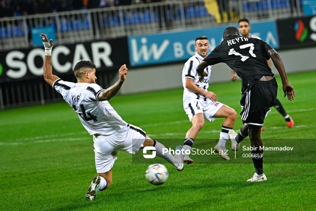
M316 72L288 78L296 98L292 102L283 98L277 78L278 98L295 127L287 128L272 108L262 138L265 145L280 141L296 151L265 152L268 180L255 184L246 182L254 168L250 158L240 158L241 150L237 161L230 150L229 162L219 155L192 156L197 162L185 165L182 172L164 163L169 178L161 186L145 179L151 161L135 164L131 155L119 152L112 185L88 202L85 192L96 175L93 141L72 108L59 102L0 111L0 211L316 210ZM210 84L209 90L239 114L240 82ZM110 103L127 123L174 148L183 144L191 127L182 107L182 93L179 88L118 95ZM214 147L222 122L206 122L194 147ZM238 115L234 129L240 126ZM242 142L249 144L248 139ZM230 149L230 145L228 141L226 147Z

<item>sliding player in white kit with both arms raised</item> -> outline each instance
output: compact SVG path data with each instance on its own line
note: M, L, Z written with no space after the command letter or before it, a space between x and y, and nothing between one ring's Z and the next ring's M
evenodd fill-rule
M112 182L112 167L117 159L118 150L135 154L140 148L154 146L156 155L168 161L178 171L183 170L183 154L173 156L161 143L149 138L139 127L127 124L108 102L125 81L127 68L119 69L119 80L107 89L95 84L95 64L80 61L74 68L78 83L66 82L52 74L52 40L41 34L45 47L43 76L45 81L58 91L64 100L78 114L83 127L93 135L95 166L97 176L92 179L86 199L94 200L98 190L105 190ZM182 151L182 146L176 150Z

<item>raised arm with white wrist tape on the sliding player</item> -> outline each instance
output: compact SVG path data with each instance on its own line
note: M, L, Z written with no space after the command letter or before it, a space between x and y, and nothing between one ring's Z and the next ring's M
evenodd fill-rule
M57 76L53 75L53 66L51 63L51 50L53 48L53 40L48 41L46 35L40 34L41 41L45 47L45 58L44 58L44 65L43 65L43 76L47 84L50 86L59 79Z

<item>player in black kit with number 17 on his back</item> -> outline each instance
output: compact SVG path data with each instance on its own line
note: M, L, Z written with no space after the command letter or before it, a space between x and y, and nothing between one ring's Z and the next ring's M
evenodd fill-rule
M277 94L276 79L273 77L267 59L271 58L282 80L284 97L294 100L295 91L288 83L283 62L267 42L255 38L239 36L236 27L228 27L224 30L223 42L197 66L200 80L207 76L204 68L220 62L226 63L235 70L242 80L242 96L240 105L241 120L248 126L251 142L251 157L256 172L248 179L248 182L261 182L267 180L263 172L263 147L261 140L261 126L270 107L274 105Z

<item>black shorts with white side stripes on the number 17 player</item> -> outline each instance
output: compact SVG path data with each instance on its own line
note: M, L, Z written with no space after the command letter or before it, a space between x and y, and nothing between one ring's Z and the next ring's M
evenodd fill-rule
M240 117L245 125L262 126L277 95L276 79L256 81L250 90L242 93Z

